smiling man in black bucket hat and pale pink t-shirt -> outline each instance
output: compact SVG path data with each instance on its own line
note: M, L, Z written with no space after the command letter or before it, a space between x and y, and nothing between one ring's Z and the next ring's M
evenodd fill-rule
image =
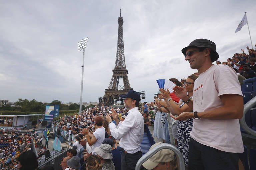
M238 170L238 153L244 152L239 126L243 116L243 94L238 77L231 67L212 64L219 54L210 40L196 39L181 51L190 67L201 73L194 82L192 100L184 87L173 88L193 110L173 117L175 120L194 118L187 141L188 168Z

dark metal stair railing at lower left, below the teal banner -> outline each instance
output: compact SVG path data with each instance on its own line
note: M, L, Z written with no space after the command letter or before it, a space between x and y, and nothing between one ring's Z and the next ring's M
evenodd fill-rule
M62 150L61 152L58 152L54 155L51 155L50 159L38 166L38 168L42 168L46 165L51 165L54 167L54 170L61 170L60 163L62 161L62 158L67 156L67 149Z

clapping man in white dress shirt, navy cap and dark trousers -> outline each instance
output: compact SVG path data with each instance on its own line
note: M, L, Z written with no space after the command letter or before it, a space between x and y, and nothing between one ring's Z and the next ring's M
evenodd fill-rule
M125 120L120 123L118 114L112 109L113 119L116 121L115 126L112 123L111 117L107 114L106 120L109 123L109 129L115 139L121 139L119 146L122 149L121 170L135 169L136 163L142 156L140 148L144 133L143 116L138 110L140 95L134 90L130 90L126 95L121 95L125 98L125 107L129 109Z

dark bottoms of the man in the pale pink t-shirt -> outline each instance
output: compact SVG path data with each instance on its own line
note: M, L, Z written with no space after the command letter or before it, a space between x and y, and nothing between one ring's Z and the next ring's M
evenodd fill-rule
M203 145L190 137L189 170L238 170L238 153L224 152Z

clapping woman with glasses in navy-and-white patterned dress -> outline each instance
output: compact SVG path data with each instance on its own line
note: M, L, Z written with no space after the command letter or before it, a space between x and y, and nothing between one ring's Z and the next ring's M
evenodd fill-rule
M190 75L186 79L185 82L185 90L187 91L188 97L192 99L193 97L193 89L194 89L194 82L198 78L197 75ZM179 115L182 112L193 112L193 110L184 102L182 101L180 104L176 104L172 99L170 99L170 92L167 89L160 89L160 92L163 96L163 99L166 102L166 107L172 113L172 115ZM168 101L169 99L169 101ZM175 118L174 116L172 116ZM190 141L190 132L193 127L193 119L187 119L178 122L177 127L177 148L180 150L186 167L188 167L188 150L189 150L189 141Z

